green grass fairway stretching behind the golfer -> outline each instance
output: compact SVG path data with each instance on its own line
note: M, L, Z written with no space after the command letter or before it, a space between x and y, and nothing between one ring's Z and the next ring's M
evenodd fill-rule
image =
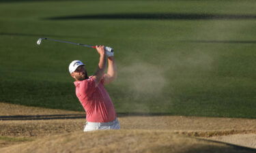
M256 15L255 1L0 2L0 101L83 111L68 65L94 73L89 48L115 49L118 78L106 86L117 112L256 118L256 29L248 19L76 19L104 14Z

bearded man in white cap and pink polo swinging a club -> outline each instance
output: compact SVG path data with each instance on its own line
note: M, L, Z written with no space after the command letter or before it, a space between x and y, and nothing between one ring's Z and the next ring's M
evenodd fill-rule
M96 46L100 60L98 69L88 77L85 65L81 61L72 61L69 66L70 75L74 78L76 97L86 112L84 132L120 129L114 105L104 85L111 83L117 76L113 52L104 50L104 46ZM108 61L107 72L106 61Z

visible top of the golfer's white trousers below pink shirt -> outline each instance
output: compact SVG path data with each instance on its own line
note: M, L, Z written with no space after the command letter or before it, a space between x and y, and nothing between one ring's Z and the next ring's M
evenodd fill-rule
M117 119L111 122L86 122L84 132L96 131L96 130L109 130L120 129L120 125Z

